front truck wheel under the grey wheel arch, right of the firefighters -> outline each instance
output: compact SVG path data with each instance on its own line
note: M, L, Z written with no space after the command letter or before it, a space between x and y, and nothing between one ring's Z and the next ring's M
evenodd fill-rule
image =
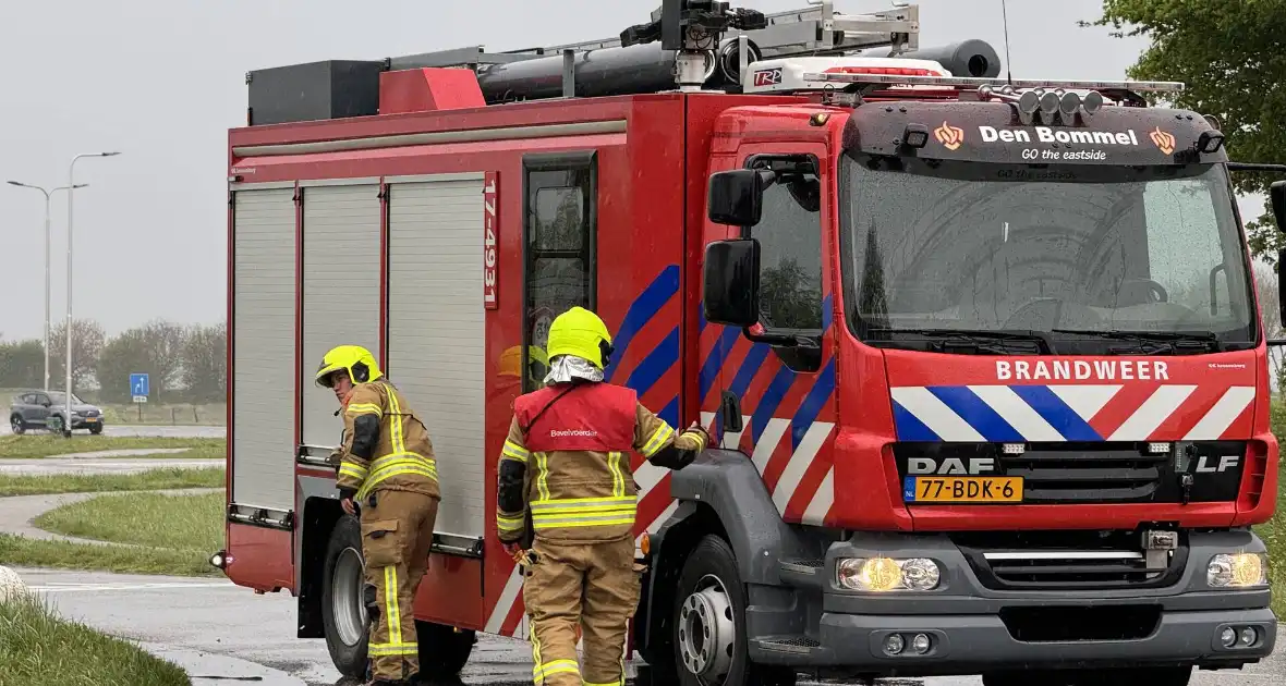
M683 565L673 627L674 665L683 686L795 685L793 669L750 662L746 585L732 547L718 536L702 538Z

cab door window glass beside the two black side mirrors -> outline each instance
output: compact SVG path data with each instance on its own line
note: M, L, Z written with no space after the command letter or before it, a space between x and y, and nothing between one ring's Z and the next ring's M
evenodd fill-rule
M750 167L777 172L764 191L763 218L750 229L760 248L760 324L768 331L822 334L822 212L818 162L813 155L761 155ZM775 348L787 366L815 371L813 348Z

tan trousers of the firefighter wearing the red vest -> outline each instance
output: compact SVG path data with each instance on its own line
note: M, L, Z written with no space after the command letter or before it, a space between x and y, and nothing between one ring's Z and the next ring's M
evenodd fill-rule
M561 543L535 540L522 602L530 622L532 680L545 686L624 686L625 635L639 602L634 540ZM576 629L584 669L576 660Z

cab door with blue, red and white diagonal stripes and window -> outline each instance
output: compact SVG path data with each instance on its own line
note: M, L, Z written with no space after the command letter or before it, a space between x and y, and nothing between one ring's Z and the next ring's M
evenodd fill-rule
M706 236L759 242L760 319L750 335L707 325L721 330L702 335L702 358L715 360L719 370L710 378L718 394L703 396L703 418L724 448L751 459L784 520L820 524L833 502L829 157L819 143L742 145L736 166L777 173L764 191L761 220L752 227L707 220ZM808 343L757 339L768 334L792 334ZM705 382L703 375L702 391Z

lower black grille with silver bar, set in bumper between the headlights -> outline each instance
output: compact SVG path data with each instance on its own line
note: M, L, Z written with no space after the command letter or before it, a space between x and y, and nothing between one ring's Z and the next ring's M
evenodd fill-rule
M1139 532L1024 532L957 534L983 586L1006 591L1160 588L1174 585L1187 564L1178 550L1154 551L1151 564Z

